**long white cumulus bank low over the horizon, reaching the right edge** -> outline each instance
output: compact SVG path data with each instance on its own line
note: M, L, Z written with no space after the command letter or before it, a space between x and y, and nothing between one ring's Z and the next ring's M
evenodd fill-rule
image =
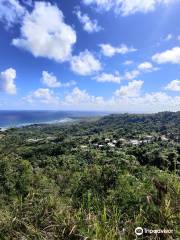
M169 96L164 92L152 92L144 95L140 94L139 88L142 83L134 84L132 87L134 94L127 94L130 90L122 90L123 94L117 91L109 99L101 96L90 95L86 90L74 88L61 101L61 107L71 109L86 110L106 110L111 111L131 111L131 112L157 112L157 111L177 111L180 110L180 97ZM130 89L130 88L129 88Z

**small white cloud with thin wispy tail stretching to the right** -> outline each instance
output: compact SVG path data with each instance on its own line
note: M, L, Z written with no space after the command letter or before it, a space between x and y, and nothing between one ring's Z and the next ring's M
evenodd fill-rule
M76 85L75 81L62 83L58 81L57 77L53 73L49 73L47 71L42 72L41 81L44 85L46 85L49 88L71 87Z

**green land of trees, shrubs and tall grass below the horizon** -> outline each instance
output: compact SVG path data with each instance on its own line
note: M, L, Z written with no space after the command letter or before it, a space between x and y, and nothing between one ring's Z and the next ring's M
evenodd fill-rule
M180 239L180 112L0 136L0 239Z

